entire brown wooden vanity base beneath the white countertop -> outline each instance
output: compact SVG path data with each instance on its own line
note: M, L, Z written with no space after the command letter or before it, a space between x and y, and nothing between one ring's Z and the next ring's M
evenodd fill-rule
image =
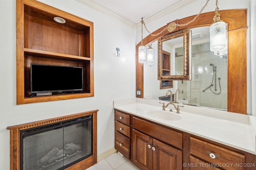
M116 109L115 148L142 170L256 170L254 154Z

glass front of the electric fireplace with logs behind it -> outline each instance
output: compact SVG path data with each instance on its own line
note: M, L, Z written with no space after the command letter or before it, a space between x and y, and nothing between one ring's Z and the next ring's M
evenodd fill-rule
M92 119L25 131L22 138L24 170L64 169L92 155Z

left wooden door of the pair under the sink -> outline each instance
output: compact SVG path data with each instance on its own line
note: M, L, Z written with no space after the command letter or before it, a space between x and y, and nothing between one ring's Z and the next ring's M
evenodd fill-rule
M152 170L152 138L132 129L132 161L142 170Z

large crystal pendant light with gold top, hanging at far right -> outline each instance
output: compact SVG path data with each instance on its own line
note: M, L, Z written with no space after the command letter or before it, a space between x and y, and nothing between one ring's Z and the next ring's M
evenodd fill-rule
M216 0L214 22L210 26L210 51L219 53L227 48L226 23L220 20L218 0Z

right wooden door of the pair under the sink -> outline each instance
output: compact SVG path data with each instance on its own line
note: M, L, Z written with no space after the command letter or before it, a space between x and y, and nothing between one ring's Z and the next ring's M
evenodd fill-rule
M182 150L153 139L153 169L182 170Z

